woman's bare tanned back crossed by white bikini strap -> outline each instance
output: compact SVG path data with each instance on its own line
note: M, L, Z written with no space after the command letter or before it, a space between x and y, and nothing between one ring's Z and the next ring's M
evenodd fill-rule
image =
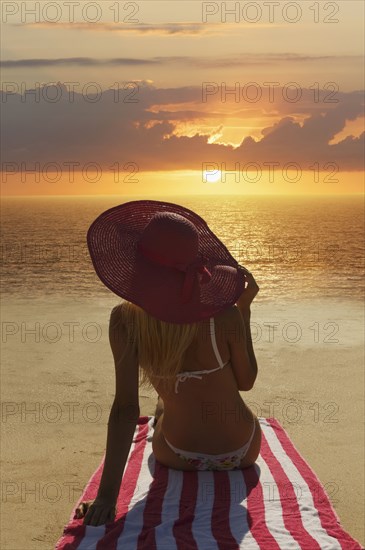
M167 391L163 381L154 384L164 401L162 430L177 447L218 454L239 447L252 431L231 361L232 347L244 345L236 338L234 307L200 322L175 391Z

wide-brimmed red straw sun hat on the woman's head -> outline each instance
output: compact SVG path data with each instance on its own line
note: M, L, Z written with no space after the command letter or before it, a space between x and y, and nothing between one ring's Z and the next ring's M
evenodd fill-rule
M110 208L89 227L87 245L104 285L161 321L214 316L245 288L245 268L200 216L178 204Z

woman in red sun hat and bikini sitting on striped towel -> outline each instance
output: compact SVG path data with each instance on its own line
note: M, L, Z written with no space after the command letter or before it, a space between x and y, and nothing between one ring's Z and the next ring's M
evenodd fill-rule
M87 242L97 275L124 298L109 324L116 395L103 475L96 499L76 510L96 526L116 515L140 374L159 394L152 449L161 464L190 471L254 464L261 428L239 392L257 376L250 306L259 287L206 222L177 204L114 207L93 222Z

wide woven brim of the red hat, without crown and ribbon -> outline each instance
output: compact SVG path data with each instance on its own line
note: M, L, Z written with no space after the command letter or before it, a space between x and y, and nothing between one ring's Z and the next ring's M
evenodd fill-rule
M157 212L186 217L199 234L199 254L207 258L211 279L196 284L191 300L180 295L184 273L142 257L139 238ZM112 292L154 317L171 323L192 323L236 303L244 290L244 270L198 214L175 203L130 201L106 210L91 224L87 245L94 269Z

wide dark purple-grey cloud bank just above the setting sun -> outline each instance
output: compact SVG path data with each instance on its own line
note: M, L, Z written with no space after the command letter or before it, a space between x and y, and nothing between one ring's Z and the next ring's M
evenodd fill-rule
M213 135L218 124L224 127L225 116L234 115L232 107L221 104L223 124L220 124L217 110L209 113L210 106L201 103L199 87L159 89L141 82L136 103L122 99L116 102L113 90L103 92L95 102L89 101L81 93L70 96L65 86L61 87L62 97L52 102L46 100L48 96L54 97L54 89L49 88L45 86L38 96L2 94L3 103L7 103L2 118L3 163L76 162L83 166L97 162L106 170L116 162L135 162L140 171L147 171L200 170L203 162L225 162L227 168L234 167L236 162L257 162L261 166L265 162L281 165L297 162L303 169L315 162L321 166L335 162L342 171L363 169L364 133L335 145L329 143L345 128L346 121L363 116L360 91L343 92L338 95L337 104L322 104L319 108L313 104L312 90L305 90L307 115L301 123L296 120L300 112L298 103L291 105L293 114L288 116L277 102L272 108L277 110L278 121L265 126L257 141L249 136L234 148L211 143L209 135L198 132L189 137L175 135L180 121L208 119L209 115L214 116ZM166 104L171 108L178 106L176 112L168 112L163 107ZM186 109L181 109L184 104ZM188 106L192 104L194 108L190 110ZM252 110L248 106L245 110L240 106L240 116L244 118L245 113L251 112L257 119L258 108L255 105ZM194 128L193 122L190 128Z

